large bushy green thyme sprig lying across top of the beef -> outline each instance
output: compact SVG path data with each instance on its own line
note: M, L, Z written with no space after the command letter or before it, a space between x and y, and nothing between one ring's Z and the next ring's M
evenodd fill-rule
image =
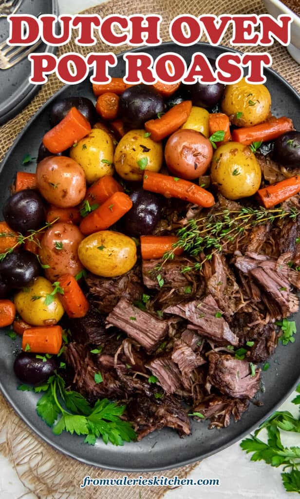
M201 270L204 261L210 260L214 253L221 252L228 243L244 237L248 229L261 224L273 224L276 219L285 217L296 220L298 215L296 208L267 210L263 207L242 207L240 210L224 209L198 219L191 219L177 231L179 239L173 244L172 250L164 253L159 268L166 260L174 258L176 248L182 248L192 256L204 253L204 258L200 263L196 262L194 267L184 267L181 271L188 272L192 268ZM156 268L159 270L158 267Z

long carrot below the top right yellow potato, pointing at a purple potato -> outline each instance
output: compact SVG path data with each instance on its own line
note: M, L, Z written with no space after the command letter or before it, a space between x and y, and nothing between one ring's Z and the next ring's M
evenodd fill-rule
M276 139L291 130L294 130L294 126L290 118L272 118L259 125L233 130L232 140L249 146L252 142L266 142Z

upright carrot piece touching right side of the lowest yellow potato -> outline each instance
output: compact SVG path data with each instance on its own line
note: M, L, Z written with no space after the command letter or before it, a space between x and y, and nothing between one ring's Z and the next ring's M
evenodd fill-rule
M71 274L59 276L59 285L64 294L60 301L69 317L84 317L89 309L89 302L83 294L77 280Z

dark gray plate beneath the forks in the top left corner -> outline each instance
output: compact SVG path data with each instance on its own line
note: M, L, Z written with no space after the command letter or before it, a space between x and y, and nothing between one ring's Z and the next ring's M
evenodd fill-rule
M58 15L57 0L24 0L16 14ZM0 18L0 42L8 37L9 25L6 18ZM56 47L42 43L35 52L54 53ZM0 70L0 125L13 118L29 102L39 89L39 85L29 83L31 63L25 58L9 69Z

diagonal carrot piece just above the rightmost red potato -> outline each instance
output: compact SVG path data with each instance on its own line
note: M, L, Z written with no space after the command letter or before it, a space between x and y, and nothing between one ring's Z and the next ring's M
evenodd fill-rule
M185 100L169 109L161 118L145 123L145 130L151 134L151 139L159 141L171 135L186 122L192 109L192 101Z

